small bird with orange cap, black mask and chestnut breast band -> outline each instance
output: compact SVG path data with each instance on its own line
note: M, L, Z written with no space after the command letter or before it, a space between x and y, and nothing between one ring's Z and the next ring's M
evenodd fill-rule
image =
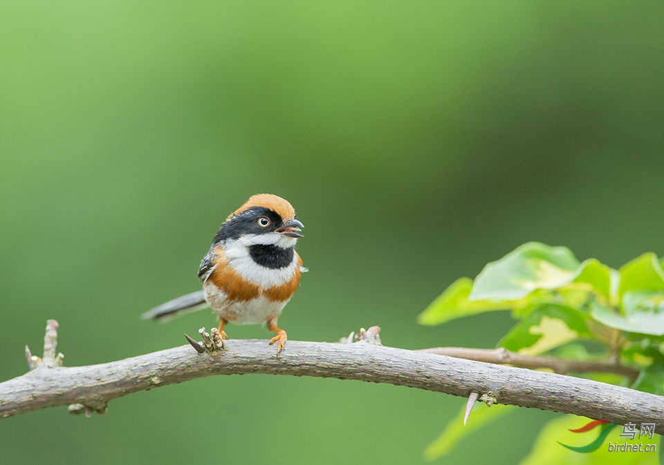
M142 314L143 319L167 321L205 307L219 316L219 334L229 321L239 325L267 323L277 333L277 356L286 343L286 331L277 319L307 269L295 252L302 238L302 222L293 206L268 193L251 196L231 213L214 236L201 260L199 279L203 290L192 292Z

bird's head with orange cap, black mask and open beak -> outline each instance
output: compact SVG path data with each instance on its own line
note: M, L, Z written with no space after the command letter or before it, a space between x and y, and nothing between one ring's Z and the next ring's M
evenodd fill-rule
M240 240L244 245L277 245L293 247L304 227L295 218L293 206L281 197L259 193L226 218L215 242L226 239Z

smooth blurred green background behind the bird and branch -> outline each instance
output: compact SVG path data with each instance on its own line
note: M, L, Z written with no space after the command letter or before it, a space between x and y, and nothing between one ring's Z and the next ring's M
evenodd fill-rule
M495 346L507 312L416 315L528 240L613 267L664 252L663 20L655 1L1 1L0 380L46 319L66 366L210 328L138 315L199 288L259 192L306 225L289 339ZM0 464L419 463L463 403L212 377L3 419ZM439 462L519 462L554 416L519 409Z

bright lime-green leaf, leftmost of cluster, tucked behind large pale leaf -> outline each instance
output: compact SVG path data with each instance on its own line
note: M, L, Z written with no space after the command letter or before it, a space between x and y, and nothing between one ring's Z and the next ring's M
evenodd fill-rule
M508 310L510 305L502 301L468 301L472 279L459 278L454 281L419 316L421 325L439 325L445 321L490 310Z

